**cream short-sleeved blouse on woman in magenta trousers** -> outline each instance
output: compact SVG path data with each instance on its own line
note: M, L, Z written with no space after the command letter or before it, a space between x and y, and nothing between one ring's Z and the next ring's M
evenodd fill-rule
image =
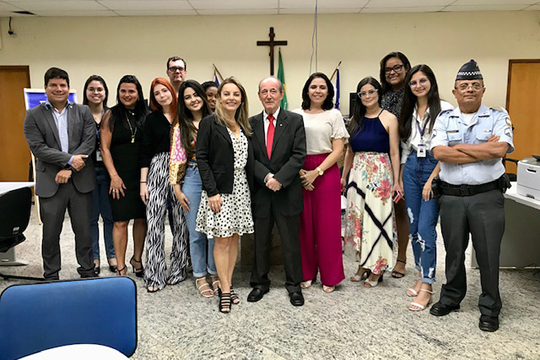
M293 112L302 115L304 119L307 155L331 153L334 139L344 139L347 143L349 132L345 128L340 110L331 109L318 114L308 114L302 109Z

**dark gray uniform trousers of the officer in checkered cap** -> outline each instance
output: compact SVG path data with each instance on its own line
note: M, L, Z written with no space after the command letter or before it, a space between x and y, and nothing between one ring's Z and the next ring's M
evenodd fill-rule
M446 249L446 279L441 302L457 305L465 298L465 250L469 233L480 267L482 294L478 307L482 315L498 316L502 307L499 293L499 256L504 234L504 196L499 190L472 196L442 195L441 230Z

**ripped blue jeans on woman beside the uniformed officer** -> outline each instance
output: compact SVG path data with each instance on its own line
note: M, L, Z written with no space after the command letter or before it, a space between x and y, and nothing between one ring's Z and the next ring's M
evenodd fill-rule
M429 284L435 281L437 259L435 226L438 219L438 204L433 198L428 202L423 200L422 190L436 165L437 160L431 152L427 152L425 158L417 158L413 150L403 168L403 191L409 217L414 264L416 269L421 271L422 282Z

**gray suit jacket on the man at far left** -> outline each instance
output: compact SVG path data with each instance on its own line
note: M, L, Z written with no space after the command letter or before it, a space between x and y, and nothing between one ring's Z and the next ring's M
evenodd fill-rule
M62 152L60 135L51 110L45 104L27 110L24 132L32 154L36 156L36 194L51 197L58 191L56 174L68 165L72 155L91 155L95 149L95 121L88 106L68 104L68 152ZM95 187L94 164L86 158L81 171L73 170L71 181L78 191L88 193Z

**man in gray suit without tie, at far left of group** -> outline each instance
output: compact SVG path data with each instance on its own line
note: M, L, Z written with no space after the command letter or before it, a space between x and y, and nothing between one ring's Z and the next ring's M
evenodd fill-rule
M52 67L45 73L47 101L27 110L24 132L36 156L36 195L43 221L45 278L58 279L60 232L69 212L75 232L75 256L82 278L95 276L90 239L90 212L95 172L89 157L95 147L95 121L86 105L68 101L69 76Z

